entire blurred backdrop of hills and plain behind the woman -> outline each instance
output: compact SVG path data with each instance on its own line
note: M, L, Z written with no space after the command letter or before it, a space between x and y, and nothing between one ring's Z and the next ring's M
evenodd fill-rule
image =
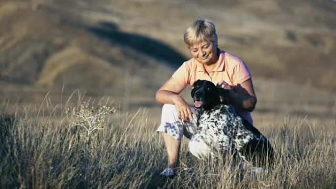
M0 0L1 101L55 105L79 89L158 125L155 92L191 57L183 33L198 18L251 70L257 128L288 117L336 127L333 0Z

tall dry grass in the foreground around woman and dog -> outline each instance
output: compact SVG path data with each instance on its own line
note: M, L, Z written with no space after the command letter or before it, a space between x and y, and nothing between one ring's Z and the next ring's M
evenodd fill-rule
M18 107L14 113L2 106L0 188L336 188L336 137L304 119L291 124L285 118L281 125L262 131L277 152L268 174L251 176L232 171L229 161L197 160L184 139L180 167L168 179L158 176L167 156L146 110L113 113L92 125L100 127L94 134L85 135L73 115L65 113L83 104L83 97L78 99L71 106L70 101L52 106L47 99L41 106L48 105L45 110ZM99 107L102 101L89 103ZM111 106L108 101L104 105Z

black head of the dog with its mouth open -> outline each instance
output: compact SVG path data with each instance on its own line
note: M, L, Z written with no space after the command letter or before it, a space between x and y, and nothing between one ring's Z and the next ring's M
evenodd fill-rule
M194 106L198 110L207 110L219 104L228 103L228 90L218 88L214 83L206 80L194 82L191 96L194 99Z

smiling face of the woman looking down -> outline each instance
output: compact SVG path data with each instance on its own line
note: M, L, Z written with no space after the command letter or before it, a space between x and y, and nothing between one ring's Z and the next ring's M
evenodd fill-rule
M217 62L217 47L213 42L201 41L189 47L197 62L210 65Z

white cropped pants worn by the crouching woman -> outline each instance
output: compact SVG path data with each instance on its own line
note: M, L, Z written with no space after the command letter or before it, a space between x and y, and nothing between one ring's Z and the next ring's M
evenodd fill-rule
M179 141L181 141L183 135L185 135L190 139L188 144L189 151L198 159L205 159L214 154L214 149L209 148L209 146L201 139L203 137L196 133L196 112L193 106L190 106L190 108L193 112L193 121L183 123L178 119L175 106L165 104L162 107L161 124L157 129L157 132L167 133Z

